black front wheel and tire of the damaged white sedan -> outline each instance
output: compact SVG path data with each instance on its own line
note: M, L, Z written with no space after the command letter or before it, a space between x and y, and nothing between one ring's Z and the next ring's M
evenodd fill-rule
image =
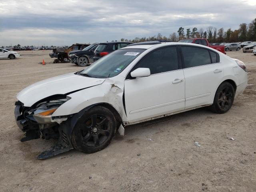
M71 136L74 148L85 153L94 153L110 144L116 132L116 119L105 107L96 106L82 115Z

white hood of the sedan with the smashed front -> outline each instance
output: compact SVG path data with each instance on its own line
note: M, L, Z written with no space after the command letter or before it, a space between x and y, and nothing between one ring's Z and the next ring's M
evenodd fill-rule
M74 73L56 76L42 80L24 88L17 94L17 98L26 107L56 94L66 94L76 90L102 84L105 79L89 78Z

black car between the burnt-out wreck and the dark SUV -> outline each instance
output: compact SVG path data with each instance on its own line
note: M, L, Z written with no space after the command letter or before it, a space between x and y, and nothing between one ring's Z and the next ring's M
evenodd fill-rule
M71 63L79 65L80 67L84 67L92 63L93 54L98 45L99 43L94 43L84 48L82 51L76 50L68 52L68 57Z

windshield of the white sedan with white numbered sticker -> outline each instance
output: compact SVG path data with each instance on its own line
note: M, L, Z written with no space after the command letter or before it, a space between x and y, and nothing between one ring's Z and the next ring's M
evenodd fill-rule
M122 72L145 49L120 49L97 60L80 75L93 78L114 77Z

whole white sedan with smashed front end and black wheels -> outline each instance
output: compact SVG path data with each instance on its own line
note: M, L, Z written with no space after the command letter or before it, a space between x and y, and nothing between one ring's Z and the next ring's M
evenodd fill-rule
M144 42L28 86L17 95L14 113L26 132L22 141L58 138L38 158L72 148L93 153L131 124L204 106L225 113L246 84L245 64L212 48Z

